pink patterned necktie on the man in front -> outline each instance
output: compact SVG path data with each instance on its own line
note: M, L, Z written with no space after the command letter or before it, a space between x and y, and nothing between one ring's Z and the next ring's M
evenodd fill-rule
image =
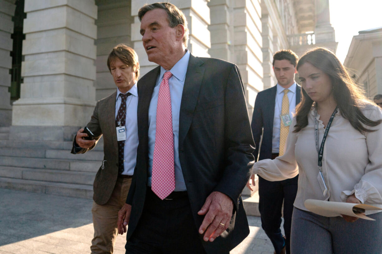
M175 190L174 137L170 87L168 86L168 79L171 76L171 72L165 72L159 87L157 126L152 159L151 190L162 200Z

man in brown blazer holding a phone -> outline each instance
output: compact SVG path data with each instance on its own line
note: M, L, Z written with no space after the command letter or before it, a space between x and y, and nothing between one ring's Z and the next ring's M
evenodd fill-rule
M134 173L138 147L137 80L139 63L136 52L123 44L113 48L107 59L117 91L100 100L86 127L94 140L79 129L71 153L86 153L104 136L104 160L94 180L91 253L113 253L117 236L118 211L125 204Z

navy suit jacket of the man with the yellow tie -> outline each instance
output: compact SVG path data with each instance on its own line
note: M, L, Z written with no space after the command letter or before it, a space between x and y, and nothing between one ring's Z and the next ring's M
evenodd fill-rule
M253 155L257 161L259 154L261 133L264 129L263 138L261 141L261 150L259 161L262 159L272 158L272 135L273 135L273 118L275 115L275 99L276 99L277 86L265 89L257 93L255 106L252 116L252 134L255 141L256 150ZM296 86L296 105L301 100L301 86Z

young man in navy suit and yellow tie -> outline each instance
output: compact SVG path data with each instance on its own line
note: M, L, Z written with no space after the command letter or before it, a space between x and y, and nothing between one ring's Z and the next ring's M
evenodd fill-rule
M256 144L256 150L253 153L255 161L274 159L279 156L279 153L281 153L280 156L283 153L285 140L282 138L280 143L280 129L289 128L292 114L300 102L301 86L295 82L297 59L298 56L291 50L276 52L273 56L273 71L277 85L257 93L251 123ZM284 95L285 98L283 98ZM285 102L287 104L284 106L289 107L287 111L289 114L285 112L282 114L282 106ZM254 184L254 175L252 182ZM261 226L272 241L275 254L290 253L290 227L297 182L298 176L276 182L267 181L259 176ZM280 230L283 201L285 238Z

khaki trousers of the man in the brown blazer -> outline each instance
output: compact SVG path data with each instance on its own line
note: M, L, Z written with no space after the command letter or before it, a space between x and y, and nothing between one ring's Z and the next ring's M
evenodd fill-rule
M90 247L92 254L112 254L117 238L118 211L126 203L131 178L118 177L112 196L106 204L93 201L92 214L94 238Z

